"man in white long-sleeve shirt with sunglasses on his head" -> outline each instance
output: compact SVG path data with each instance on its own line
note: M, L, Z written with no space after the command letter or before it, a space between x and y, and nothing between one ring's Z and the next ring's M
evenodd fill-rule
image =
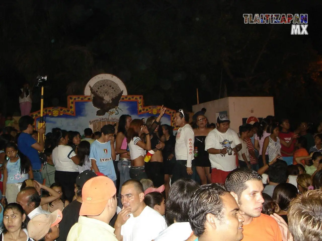
M194 159L194 130L188 124L189 114L183 110L175 113L175 125L179 126L175 137L175 159L171 183L180 178L191 178L192 160Z

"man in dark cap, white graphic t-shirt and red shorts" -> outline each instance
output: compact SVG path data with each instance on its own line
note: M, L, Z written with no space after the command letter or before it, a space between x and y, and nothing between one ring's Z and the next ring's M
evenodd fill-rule
M242 149L242 144L229 124L226 114L219 115L217 129L210 131L205 140L205 150L209 153L212 168L212 183L225 183L227 175L237 168L236 155Z

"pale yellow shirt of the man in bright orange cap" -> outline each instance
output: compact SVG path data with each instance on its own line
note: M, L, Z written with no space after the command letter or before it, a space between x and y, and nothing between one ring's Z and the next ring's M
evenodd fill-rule
M114 235L114 228L107 223L85 216L78 218L68 233L67 241L109 240L118 241Z

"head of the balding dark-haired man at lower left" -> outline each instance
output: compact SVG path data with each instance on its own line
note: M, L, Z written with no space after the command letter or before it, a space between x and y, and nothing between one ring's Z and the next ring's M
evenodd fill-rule
M16 201L29 214L39 207L41 198L34 187L25 187L18 193Z

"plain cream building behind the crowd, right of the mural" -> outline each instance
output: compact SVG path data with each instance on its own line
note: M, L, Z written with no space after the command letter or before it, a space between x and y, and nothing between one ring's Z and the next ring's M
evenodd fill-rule
M220 112L227 111L231 121L230 127L238 132L243 124L243 118L256 117L265 118L274 115L273 97L226 97L192 106L194 113L203 107L207 109L206 117L209 123L216 123Z

